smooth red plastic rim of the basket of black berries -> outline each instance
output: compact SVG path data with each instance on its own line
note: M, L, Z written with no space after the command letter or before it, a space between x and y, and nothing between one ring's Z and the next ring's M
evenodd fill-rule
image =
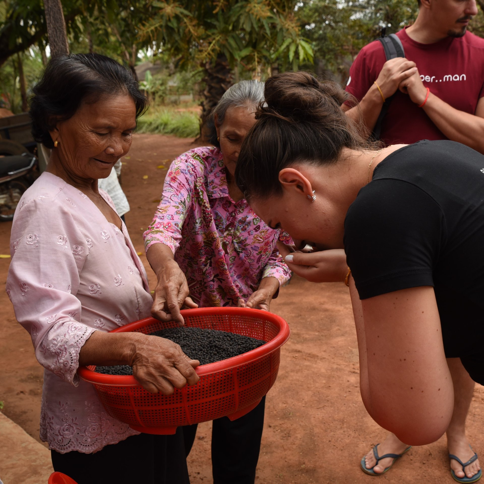
M272 323L275 323L276 326L279 327L279 333L276 334L271 341L264 343L263 345L259 346L258 348L251 349L246 353L242 353L242 355L232 356L231 358L227 358L226 360L221 360L215 363L208 363L204 365L197 366L195 371L198 376L206 376L210 375L211 373L215 373L218 371L229 370L230 368L234 368L235 366L240 366L246 363L252 363L255 360L263 356L267 356L271 354L273 351L279 349L286 341L289 339L290 329L287 322L277 316L276 314L270 313L269 311L263 311L261 309L251 309L251 308L241 308L241 307L203 307L197 309L182 309L181 315L183 317L195 317L199 315L206 315L209 314L224 314L224 315L241 315L245 313L245 315L250 316L251 314L257 316L257 318L263 318ZM142 328L146 326L151 321L158 321L155 318L144 318L140 319L139 321L133 321L132 323L125 324L119 328L109 331L109 333L128 333L132 332L135 329ZM89 365L95 366L95 365ZM105 375L103 373L96 373L94 370L89 369L87 366L79 366L77 369L77 374L83 380L94 383L98 385L105 385L105 386L116 386L116 387L133 387L133 386L141 386L140 383L136 380L136 378L132 375ZM186 385L185 385L186 387Z

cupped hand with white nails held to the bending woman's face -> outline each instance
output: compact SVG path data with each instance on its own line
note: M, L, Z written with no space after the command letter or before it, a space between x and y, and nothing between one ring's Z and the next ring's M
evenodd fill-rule
M277 248L287 267L310 282L343 282L348 273L346 254L343 249L329 249L310 254L291 252L282 242Z

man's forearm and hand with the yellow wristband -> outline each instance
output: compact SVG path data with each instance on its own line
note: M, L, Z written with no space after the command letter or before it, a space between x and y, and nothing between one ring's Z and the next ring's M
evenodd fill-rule
M376 83L383 93L383 97L388 99L392 96L402 80L408 76L412 76L416 71L415 62L408 61L404 57L397 57L386 61L376 80ZM348 109L347 105L343 105L342 108L355 121L358 120L361 113L365 126L368 132L371 133L378 120L382 106L383 99L380 91L378 91L375 84L372 84L357 106Z

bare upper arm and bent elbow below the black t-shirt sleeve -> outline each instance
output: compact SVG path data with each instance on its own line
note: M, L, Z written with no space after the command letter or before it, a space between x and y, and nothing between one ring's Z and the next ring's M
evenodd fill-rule
M454 390L433 288L360 301L352 283L351 299L368 413L407 444L439 439L452 417Z

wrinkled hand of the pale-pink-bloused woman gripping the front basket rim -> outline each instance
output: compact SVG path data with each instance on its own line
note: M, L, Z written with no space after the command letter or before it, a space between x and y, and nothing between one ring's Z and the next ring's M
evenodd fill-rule
M200 362L188 358L180 346L159 336L135 334L130 365L133 376L150 393L171 395L175 388L195 385L200 377L195 369Z

